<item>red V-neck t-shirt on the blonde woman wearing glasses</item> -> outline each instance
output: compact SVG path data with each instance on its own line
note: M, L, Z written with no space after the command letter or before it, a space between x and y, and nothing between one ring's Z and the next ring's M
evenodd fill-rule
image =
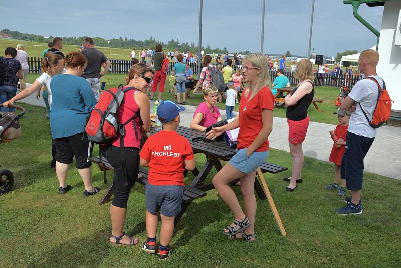
M241 97L240 102L240 131L238 133L237 149L249 147L259 132L262 130L262 110L268 109L273 111L274 97L272 91L268 87L262 88L255 97L249 102L251 93L245 97ZM269 150L269 140L266 139L255 152L263 152Z

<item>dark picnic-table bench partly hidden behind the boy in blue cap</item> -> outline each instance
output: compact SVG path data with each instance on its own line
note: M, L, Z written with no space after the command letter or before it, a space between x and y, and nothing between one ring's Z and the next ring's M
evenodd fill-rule
M90 157L88 159L89 159L89 161L98 165L98 167L101 171L105 171L105 170L114 171L114 168L110 165L110 163L105 158L102 158L101 161L100 161L99 157ZM148 179L148 170L140 168L137 182L145 185L147 182L147 179ZM112 187L113 187L113 183L110 184L110 186L106 190L106 193L100 199L100 201L99 201L100 205L102 205L110 200L111 196L113 195ZM181 212L175 217L174 226L176 226L178 224L179 220L181 219L182 215L185 213L186 209L189 207L190 203L193 200L198 199L200 197L204 197L204 196L206 196L206 193L204 191L185 185L184 195L182 196Z

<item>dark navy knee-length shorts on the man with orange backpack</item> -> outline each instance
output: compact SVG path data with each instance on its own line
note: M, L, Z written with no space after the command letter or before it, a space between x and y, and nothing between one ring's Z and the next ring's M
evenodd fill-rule
M363 159L373 141L374 138L347 133L345 153L341 160L341 179L346 180L348 190L362 190Z

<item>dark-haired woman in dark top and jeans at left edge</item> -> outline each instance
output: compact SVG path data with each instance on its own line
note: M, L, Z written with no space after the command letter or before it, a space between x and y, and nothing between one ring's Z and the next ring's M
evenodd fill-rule
M0 103L9 101L17 93L17 77L21 79L22 89L25 88L23 83L23 72L21 63L15 59L17 50L12 47L6 48L4 57L0 58ZM0 112L14 112L14 108L1 107Z

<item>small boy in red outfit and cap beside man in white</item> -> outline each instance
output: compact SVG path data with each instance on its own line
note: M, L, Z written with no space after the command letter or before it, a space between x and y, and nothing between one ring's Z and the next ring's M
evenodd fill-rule
M340 122L335 130L330 130L331 138L333 138L334 144L331 149L329 161L334 163L335 175L334 175L334 183L330 183L326 185L324 189L326 190L338 190L338 180L340 179L340 166L342 156L345 152L345 138L347 137L348 132L348 123L349 117L351 116L351 112L347 110L338 109L338 112L334 114L338 114L338 122ZM345 179L341 179L341 188L338 190L337 195L344 196L345 195Z

